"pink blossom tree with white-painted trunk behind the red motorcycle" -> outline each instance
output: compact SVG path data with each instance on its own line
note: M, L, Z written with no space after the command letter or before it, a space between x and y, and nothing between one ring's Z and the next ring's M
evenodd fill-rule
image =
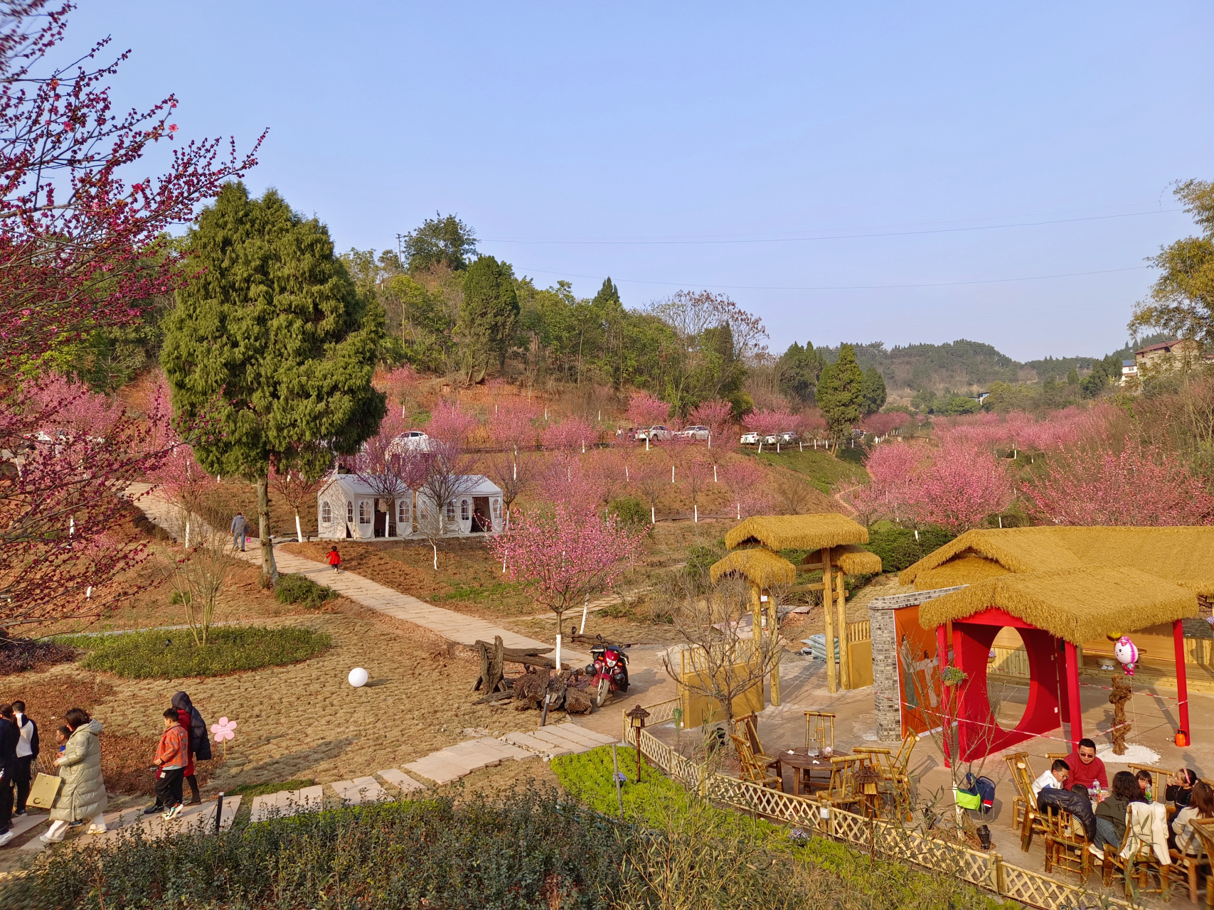
M636 561L648 530L629 529L615 516L556 502L521 514L509 534L488 539L494 558L506 565L506 576L556 614L558 667L565 613L609 588Z

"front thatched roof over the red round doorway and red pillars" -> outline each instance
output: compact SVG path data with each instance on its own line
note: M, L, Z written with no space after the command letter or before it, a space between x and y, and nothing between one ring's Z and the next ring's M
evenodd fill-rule
M1138 569L1084 565L1006 574L919 608L924 629L998 608L1076 644L1198 615L1197 595Z

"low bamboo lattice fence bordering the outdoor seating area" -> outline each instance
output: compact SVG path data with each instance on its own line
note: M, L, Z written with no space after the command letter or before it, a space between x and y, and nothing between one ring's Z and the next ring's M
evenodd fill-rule
M671 721L677 707L679 699L646 705L649 712L646 724L653 727ZM635 744L636 735L629 727L628 717L625 716L623 721L624 741ZM725 774L707 772L659 740L648 729L641 730L640 740L641 753L651 764L660 768L688 790L694 790L715 803L796 825L822 837L850 843L870 855L951 875L1002 898L1019 900L1042 910L1133 906L1127 900L1096 895L1084 888L1060 882L1044 872L1005 863L998 853L982 853L909 830L896 823L868 819L823 806L806 796L794 796ZM1094 874L1099 875L1099 866Z

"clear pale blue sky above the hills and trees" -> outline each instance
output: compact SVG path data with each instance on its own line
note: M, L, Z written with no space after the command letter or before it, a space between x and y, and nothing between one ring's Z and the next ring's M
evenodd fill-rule
M1214 178L1208 4L81 5L121 104L268 127L250 187L339 249L456 212L540 285L728 294L775 351L1106 353L1192 232L1169 183Z

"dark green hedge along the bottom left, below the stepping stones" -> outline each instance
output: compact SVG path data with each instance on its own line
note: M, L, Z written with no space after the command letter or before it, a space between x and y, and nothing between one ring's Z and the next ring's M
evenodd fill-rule
M221 834L45 851L0 885L6 910L58 908L606 906L619 886L614 826L554 790L432 797L271 819Z

